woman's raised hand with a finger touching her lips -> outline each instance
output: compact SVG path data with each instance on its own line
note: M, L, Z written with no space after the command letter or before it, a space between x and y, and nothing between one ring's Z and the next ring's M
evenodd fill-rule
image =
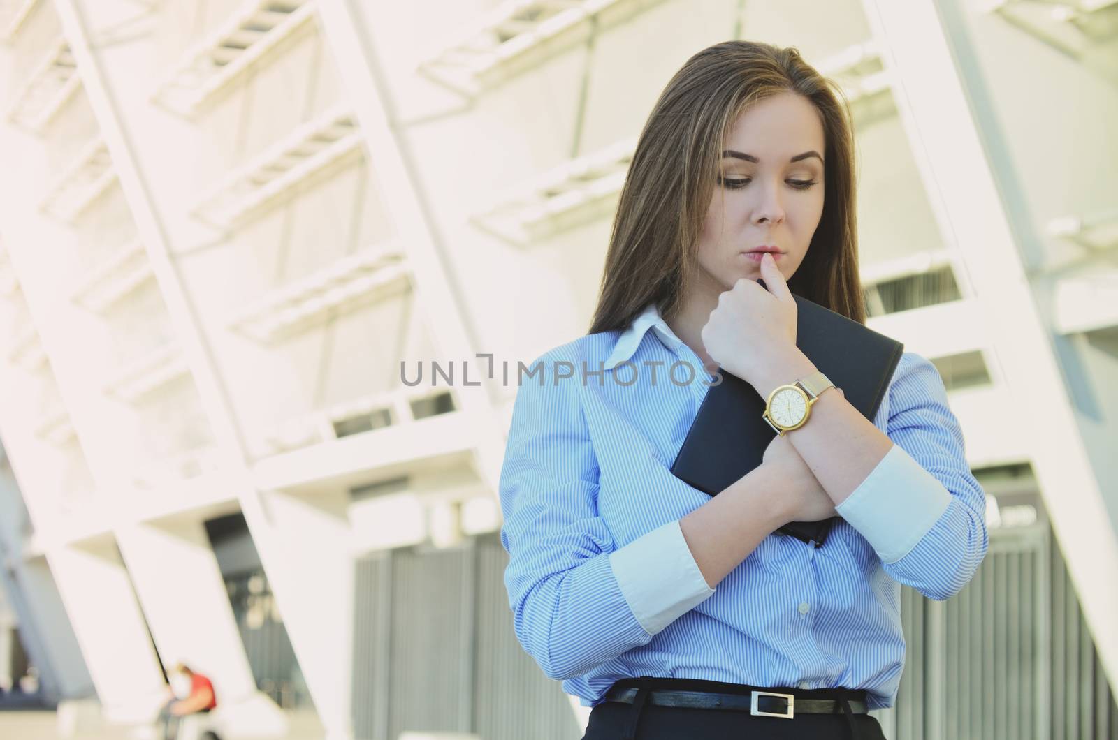
M701 332L707 354L727 372L752 386L766 368L778 367L799 351L796 300L769 255L761 259L761 277L767 291L756 281L742 277L731 290L722 292Z

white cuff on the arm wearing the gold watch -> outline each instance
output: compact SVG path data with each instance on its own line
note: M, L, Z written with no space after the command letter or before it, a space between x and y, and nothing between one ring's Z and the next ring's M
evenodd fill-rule
M907 556L950 503L944 484L893 444L835 512L889 565Z

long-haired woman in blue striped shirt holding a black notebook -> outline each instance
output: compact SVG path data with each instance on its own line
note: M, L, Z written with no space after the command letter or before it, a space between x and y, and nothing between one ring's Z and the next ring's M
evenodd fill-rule
M519 379L505 586L521 645L594 708L587 740L883 738L900 585L947 599L985 556L958 423L911 352L872 423L832 387L717 496L670 473L720 372L764 398L816 372L793 293L864 323L853 163L796 49L700 51L641 134L590 333ZM775 533L835 514L818 549Z

